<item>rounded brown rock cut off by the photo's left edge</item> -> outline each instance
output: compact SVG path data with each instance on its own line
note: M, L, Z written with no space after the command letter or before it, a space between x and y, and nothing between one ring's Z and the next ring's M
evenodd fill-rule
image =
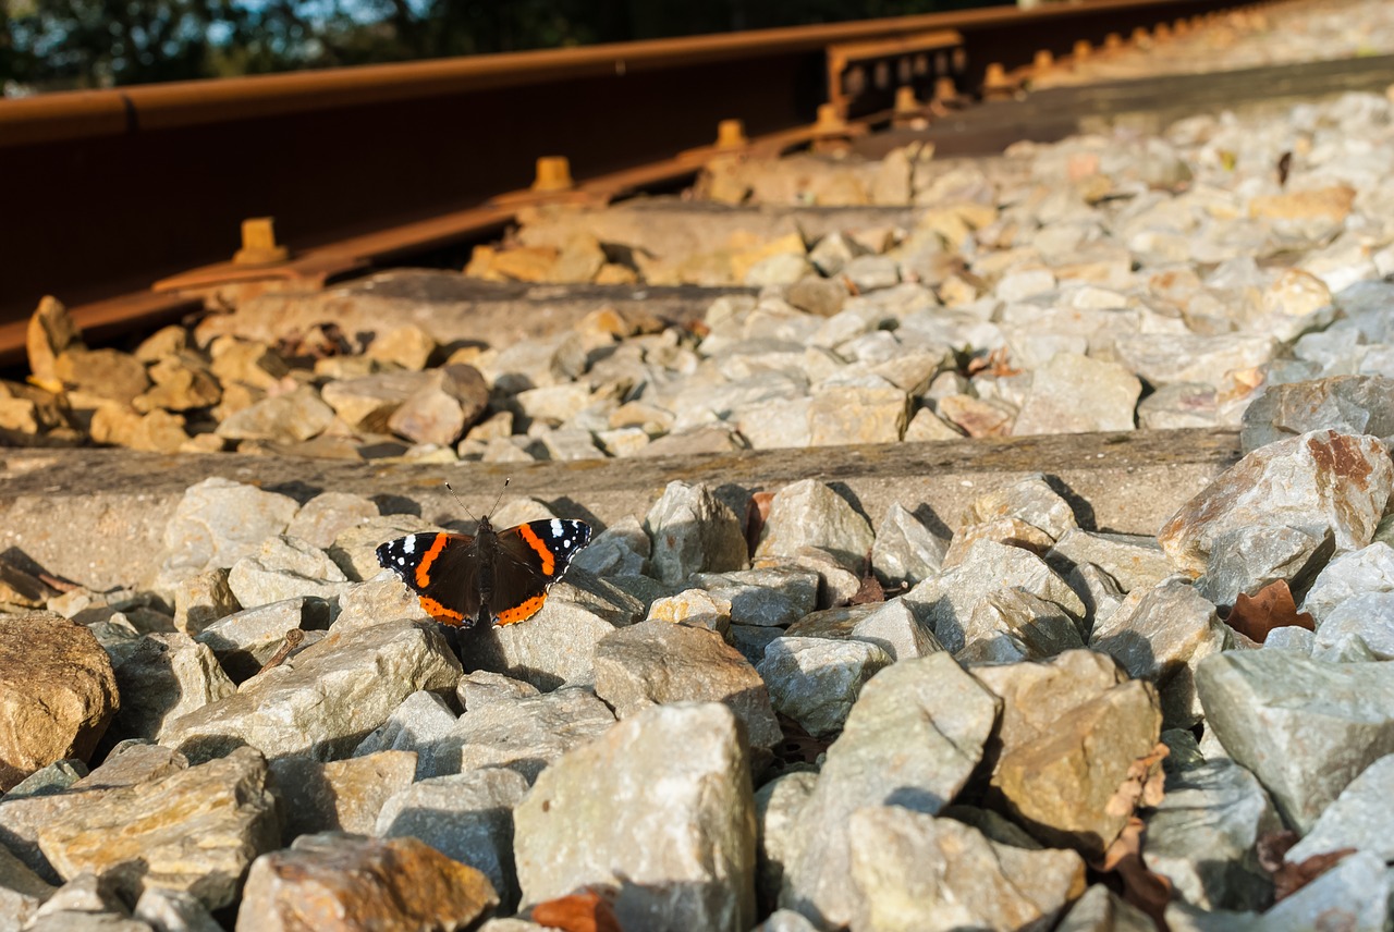
M0 616L0 790L64 758L86 761L118 706L116 673L81 624Z

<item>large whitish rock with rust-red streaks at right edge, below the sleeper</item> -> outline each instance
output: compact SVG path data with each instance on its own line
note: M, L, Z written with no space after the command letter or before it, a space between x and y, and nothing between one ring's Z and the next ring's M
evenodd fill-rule
M1327 534L1338 553L1370 542L1390 497L1394 463L1374 437L1313 430L1260 447L1184 504L1157 535L1190 575L1231 531L1291 527Z

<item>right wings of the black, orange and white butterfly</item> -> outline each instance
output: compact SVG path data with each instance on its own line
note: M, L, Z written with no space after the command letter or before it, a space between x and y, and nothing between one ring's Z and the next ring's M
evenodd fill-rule
M562 578L572 557L591 542L584 521L528 521L499 532L493 570L493 605L499 624L531 619L546 602L546 589Z

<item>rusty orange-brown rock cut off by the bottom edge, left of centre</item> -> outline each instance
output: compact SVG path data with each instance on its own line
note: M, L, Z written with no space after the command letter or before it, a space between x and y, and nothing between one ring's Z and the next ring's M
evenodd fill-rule
M417 839L309 834L252 865L237 932L464 929L498 903L482 872Z

